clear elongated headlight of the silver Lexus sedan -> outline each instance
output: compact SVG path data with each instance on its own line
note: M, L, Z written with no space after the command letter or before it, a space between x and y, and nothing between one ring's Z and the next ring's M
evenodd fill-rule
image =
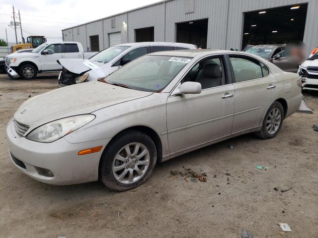
M51 121L31 131L26 138L44 143L53 142L79 129L93 119L95 119L94 115L87 114Z

